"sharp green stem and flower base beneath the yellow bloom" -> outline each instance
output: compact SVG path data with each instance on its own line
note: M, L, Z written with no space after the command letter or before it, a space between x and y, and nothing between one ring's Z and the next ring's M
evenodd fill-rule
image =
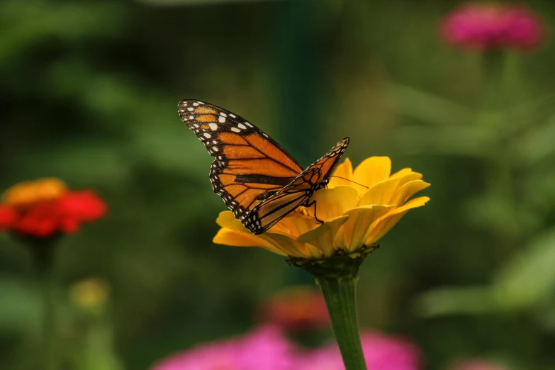
M313 274L322 289L345 370L366 370L360 342L356 293L360 264L374 248L368 248L357 258L333 257L301 266Z

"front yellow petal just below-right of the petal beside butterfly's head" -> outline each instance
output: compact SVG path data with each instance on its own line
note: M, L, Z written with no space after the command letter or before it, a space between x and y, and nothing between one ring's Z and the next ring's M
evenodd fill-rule
M343 250L357 250L364 244L364 235L372 223L388 213L393 206L362 206L347 212L349 220L337 232L335 245Z

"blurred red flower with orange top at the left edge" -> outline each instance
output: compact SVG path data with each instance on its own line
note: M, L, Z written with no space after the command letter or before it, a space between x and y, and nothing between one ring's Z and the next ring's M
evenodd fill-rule
M0 203L0 231L32 237L76 232L107 207L94 191L70 191L60 179L39 179L11 186Z

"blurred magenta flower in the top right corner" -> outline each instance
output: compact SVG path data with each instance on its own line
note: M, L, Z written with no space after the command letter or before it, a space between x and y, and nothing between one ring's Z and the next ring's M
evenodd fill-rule
M532 50L544 38L537 15L520 5L466 3L447 15L441 33L447 43L478 50Z

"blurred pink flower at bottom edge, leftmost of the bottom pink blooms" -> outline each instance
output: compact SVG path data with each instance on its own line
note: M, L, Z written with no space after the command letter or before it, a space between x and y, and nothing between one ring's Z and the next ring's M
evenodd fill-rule
M199 344L160 361L151 370L297 370L296 348L276 327Z

